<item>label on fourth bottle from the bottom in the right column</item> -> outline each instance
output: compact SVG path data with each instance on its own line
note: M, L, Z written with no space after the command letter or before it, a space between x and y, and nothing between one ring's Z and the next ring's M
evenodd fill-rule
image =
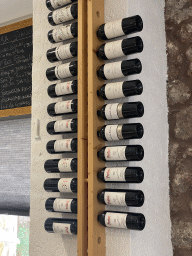
M121 161L127 160L125 156L126 146L106 147L105 159L106 161Z

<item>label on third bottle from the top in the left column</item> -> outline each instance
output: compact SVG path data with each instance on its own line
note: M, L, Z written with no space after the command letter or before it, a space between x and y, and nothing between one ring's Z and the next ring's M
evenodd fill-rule
M70 24L57 29L53 29L52 33L53 33L53 40L56 43L73 38Z

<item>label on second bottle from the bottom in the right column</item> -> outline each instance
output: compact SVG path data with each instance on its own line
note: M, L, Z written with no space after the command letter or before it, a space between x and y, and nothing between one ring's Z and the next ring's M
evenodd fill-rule
M104 201L107 205L127 206L125 194L122 192L105 192Z

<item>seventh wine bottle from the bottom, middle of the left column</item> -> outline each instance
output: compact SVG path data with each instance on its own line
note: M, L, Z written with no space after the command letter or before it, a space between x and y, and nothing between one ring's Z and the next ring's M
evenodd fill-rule
M77 99L51 103L47 107L47 113L50 116L77 113Z

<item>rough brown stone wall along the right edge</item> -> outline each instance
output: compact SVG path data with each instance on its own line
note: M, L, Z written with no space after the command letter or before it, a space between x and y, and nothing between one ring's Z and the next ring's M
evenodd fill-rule
M172 243L174 256L191 256L192 1L165 3Z

